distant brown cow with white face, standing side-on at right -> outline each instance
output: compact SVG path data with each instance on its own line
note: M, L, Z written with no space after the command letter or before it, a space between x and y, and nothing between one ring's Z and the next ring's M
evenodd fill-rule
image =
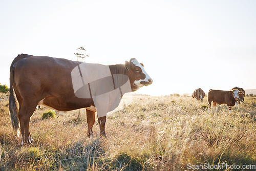
M234 89L232 91L223 91L223 90L209 90L208 92L208 106L210 109L211 102L213 102L213 105L216 106L216 103L218 104L227 104L229 112L232 109L232 106L236 104L237 99L243 102L242 99L238 96L243 92L239 92L237 89Z

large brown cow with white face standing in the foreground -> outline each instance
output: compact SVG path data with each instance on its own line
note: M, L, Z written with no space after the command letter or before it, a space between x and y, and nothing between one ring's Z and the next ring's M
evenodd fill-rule
M95 112L97 112L94 101L91 98L92 95L89 98L77 97L74 92L75 86L72 84L72 70L81 63L82 62L62 58L26 54L18 55L13 60L10 68L9 110L14 131L18 133L20 130L22 133L22 144L23 140L28 143L33 141L29 132L29 122L37 104L48 106L56 111L71 111L86 108L88 124L87 135L91 135L92 127L95 122ZM116 83L114 80L118 81L118 78L114 78L113 75L119 74L126 75L129 78L131 91L136 91L142 86L148 86L152 83L152 79L145 72L142 63L139 63L135 58L132 58L130 61L125 61L124 65L110 65L109 70L113 78L113 81L109 83L112 83L112 85L107 85L103 82L100 82L101 85L94 84L99 91L102 87L115 87L113 86L113 84ZM88 72L100 73L102 71L97 70L96 67L94 71ZM91 86L92 85L93 84L91 84ZM119 86L121 86L121 84ZM90 88L92 89L93 87ZM120 90L119 88L115 87L113 91L121 92L121 88ZM19 109L17 109L14 92L19 104ZM97 92L95 88L94 92ZM124 93L125 92L122 92L121 96ZM115 100L115 98L119 98L120 93L116 93L113 96L116 97L111 97L112 101L106 99L106 101L102 102L102 105L104 103L109 104L113 102L113 100L115 102L120 100ZM100 117L98 116L100 134L103 136L105 136L105 121L106 114Z

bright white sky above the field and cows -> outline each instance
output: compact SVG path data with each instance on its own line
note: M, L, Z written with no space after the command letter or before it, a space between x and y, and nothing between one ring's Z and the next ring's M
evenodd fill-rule
M0 83L20 53L116 64L136 58L136 93L256 89L256 1L1 1ZM42 74L44 74L42 72Z

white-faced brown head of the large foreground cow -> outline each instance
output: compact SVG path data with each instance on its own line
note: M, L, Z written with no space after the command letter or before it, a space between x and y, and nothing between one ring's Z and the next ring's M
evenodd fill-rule
M142 86L148 86L153 82L143 67L143 64L139 63L135 58L130 59L130 61L125 61L125 68L128 72L133 92Z

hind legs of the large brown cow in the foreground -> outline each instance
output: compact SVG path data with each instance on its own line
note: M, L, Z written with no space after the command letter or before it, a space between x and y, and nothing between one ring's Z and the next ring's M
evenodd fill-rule
M35 111L36 105L23 101L22 107L19 109L18 118L20 124L20 132L22 133L22 144L23 141L31 144L31 134L29 133L29 122L30 117ZM33 139L32 139L33 140Z

